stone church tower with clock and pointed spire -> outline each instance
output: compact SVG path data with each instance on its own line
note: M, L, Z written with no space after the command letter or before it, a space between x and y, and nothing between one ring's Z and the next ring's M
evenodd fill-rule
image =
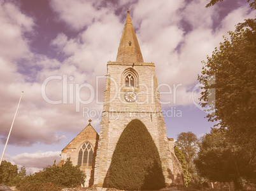
M176 178L157 91L155 64L143 61L129 11L117 60L108 62L107 67L94 185L103 187L115 146L132 119L139 119L145 124L159 150L166 183L174 183Z

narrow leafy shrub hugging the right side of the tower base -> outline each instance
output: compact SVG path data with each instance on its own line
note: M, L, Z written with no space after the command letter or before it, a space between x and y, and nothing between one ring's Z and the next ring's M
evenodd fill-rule
M188 172L188 163L185 161L184 155L181 152L181 150L176 146L174 147L174 153L177 159L180 161L182 171L183 171L185 186L188 187L188 183L190 183L190 181L192 180L192 175L191 173Z

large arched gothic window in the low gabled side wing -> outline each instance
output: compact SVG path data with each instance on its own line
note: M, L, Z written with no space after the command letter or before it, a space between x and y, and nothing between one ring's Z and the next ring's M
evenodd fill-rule
M78 152L78 166L92 166L92 155L94 151L92 145L89 142L83 143Z

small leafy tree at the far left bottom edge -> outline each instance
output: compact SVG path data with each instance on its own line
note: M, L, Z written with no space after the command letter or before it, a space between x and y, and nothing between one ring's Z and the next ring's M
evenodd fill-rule
M2 161L0 166L0 183L8 186L15 186L17 183L18 168L11 162Z

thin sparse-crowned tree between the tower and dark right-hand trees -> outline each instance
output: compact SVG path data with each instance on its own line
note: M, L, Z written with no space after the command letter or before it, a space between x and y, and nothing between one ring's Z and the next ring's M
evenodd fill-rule
M196 182L198 177L196 175L196 167L194 165L194 159L197 155L199 139L197 136L188 131L187 133L180 133L177 135L177 140L174 143L184 155L185 161L188 164L188 173L192 175L192 182Z

